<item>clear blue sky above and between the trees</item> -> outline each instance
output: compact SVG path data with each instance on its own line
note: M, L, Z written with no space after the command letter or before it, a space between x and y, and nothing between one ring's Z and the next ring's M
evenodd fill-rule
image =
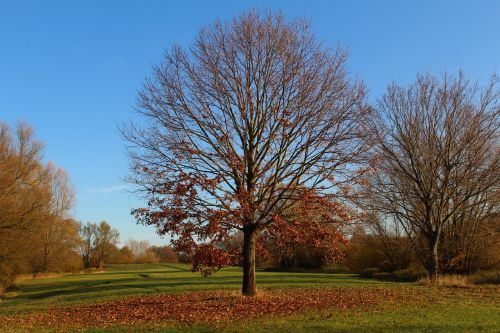
M500 72L500 1L0 0L0 121L35 127L46 159L71 175L77 219L107 220L122 241L165 243L129 215L141 202L123 192L117 125L134 117L162 50L250 8L308 17L320 39L349 47L372 100L419 72Z

